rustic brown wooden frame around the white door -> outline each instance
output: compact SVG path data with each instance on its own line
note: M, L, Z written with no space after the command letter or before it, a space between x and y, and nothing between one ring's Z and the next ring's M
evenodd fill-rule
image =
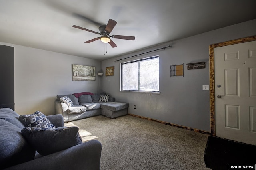
M217 47L224 47L227 45L234 45L238 43L250 42L255 41L256 36L250 36L246 38L239 38L236 40L230 40L226 42L216 43L209 45L209 72L210 72L210 127L211 127L211 134L216 136L215 132L215 75L214 75L214 48Z

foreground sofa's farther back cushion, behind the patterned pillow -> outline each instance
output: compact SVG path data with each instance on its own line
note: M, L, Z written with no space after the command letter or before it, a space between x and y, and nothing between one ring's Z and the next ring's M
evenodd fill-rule
M0 119L4 119L13 125L16 125L20 129L24 128L25 126L19 119L19 114L13 111L10 108L1 108L0 109Z

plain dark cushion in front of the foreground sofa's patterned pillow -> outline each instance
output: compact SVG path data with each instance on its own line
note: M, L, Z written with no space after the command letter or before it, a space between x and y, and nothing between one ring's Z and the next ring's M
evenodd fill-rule
M36 149L45 156L82 143L78 127L23 128L22 135Z

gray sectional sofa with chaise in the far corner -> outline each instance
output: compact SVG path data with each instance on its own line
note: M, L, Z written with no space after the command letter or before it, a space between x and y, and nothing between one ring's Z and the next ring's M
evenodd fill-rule
M72 101L72 105L68 105L70 103L67 104L63 101L63 97L68 97ZM55 101L55 113L62 114L64 122L84 119L96 115L105 115L113 119L122 115L127 115L128 107L129 103L115 101L114 97L106 95L106 93L93 94L90 92L81 92L68 95L57 95Z

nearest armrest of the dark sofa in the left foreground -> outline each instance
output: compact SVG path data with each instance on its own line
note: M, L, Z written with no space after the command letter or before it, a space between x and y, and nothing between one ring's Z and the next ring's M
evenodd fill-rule
M6 170L100 170L101 143L91 140Z

